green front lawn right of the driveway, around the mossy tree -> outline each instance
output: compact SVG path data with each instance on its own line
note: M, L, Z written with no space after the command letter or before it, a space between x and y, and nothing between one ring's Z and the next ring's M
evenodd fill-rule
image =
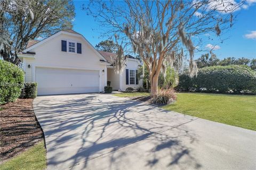
M147 93L115 94L119 97ZM162 108L207 120L256 130L256 96L179 93L174 104Z

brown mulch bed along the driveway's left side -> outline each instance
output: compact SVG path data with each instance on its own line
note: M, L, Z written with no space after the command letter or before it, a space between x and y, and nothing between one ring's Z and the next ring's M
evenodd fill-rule
M3 162L42 141L43 132L36 121L33 99L18 99L0 108L0 161Z

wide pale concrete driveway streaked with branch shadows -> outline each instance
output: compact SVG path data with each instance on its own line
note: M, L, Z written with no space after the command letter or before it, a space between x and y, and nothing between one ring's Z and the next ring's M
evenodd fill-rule
M256 132L104 94L40 96L48 169L255 169Z

